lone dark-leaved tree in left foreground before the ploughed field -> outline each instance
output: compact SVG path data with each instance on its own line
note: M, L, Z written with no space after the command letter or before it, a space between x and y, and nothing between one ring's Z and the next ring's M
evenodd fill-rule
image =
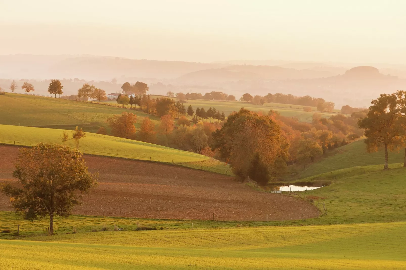
M68 217L80 204L82 194L97 185L97 175L87 171L82 155L67 146L37 144L21 148L13 176L22 188L2 186L2 193L12 198L16 212L24 219L50 216L50 234L54 234L54 215Z

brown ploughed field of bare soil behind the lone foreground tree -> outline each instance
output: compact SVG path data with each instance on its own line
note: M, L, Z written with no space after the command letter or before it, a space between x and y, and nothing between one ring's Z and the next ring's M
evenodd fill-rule
M15 146L0 146L0 181L16 181ZM75 214L160 219L294 220L317 216L307 201L256 191L229 176L159 163L84 156L99 185ZM12 210L0 194L0 210Z

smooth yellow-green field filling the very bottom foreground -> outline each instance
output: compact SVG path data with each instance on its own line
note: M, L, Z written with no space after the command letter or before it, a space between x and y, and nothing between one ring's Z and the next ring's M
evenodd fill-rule
M103 231L33 240L1 240L0 268L406 268L406 223Z

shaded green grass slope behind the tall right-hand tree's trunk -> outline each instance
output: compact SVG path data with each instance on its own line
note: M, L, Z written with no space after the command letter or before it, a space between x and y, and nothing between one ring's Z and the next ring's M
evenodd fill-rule
M383 150L368 153L364 140L354 141L346 146L337 148L330 156L311 164L300 172L300 178L315 176L328 171L351 168L355 166L379 165L385 162ZM404 162L404 149L389 152L389 163ZM396 166L396 165L394 165Z

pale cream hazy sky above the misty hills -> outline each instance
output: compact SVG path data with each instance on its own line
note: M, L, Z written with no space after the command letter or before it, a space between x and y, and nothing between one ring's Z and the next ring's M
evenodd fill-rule
M406 63L405 0L0 0L0 54Z

